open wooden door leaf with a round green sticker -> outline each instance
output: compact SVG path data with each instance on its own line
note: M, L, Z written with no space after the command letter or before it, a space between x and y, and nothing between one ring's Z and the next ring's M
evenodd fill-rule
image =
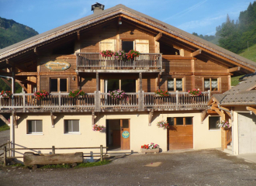
M120 119L121 150L130 150L130 119Z

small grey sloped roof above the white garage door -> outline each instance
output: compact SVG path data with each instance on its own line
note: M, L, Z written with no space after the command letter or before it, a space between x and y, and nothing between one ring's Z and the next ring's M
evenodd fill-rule
M256 105L256 76L237 84L223 94L213 95L220 105Z

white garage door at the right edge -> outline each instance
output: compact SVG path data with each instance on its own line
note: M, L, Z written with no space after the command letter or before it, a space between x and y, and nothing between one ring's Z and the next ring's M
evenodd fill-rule
M239 153L256 153L256 116L238 113Z

